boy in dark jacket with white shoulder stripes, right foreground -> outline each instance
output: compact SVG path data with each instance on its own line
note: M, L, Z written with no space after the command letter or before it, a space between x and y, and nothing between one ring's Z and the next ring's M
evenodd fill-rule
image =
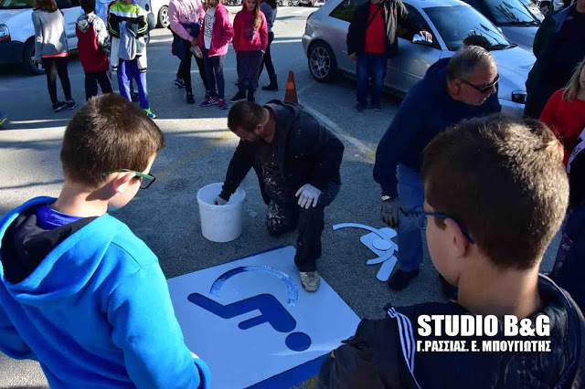
M538 275L569 200L563 148L531 126L493 115L427 146L427 242L459 301L362 321L324 361L317 388L583 387L583 315Z

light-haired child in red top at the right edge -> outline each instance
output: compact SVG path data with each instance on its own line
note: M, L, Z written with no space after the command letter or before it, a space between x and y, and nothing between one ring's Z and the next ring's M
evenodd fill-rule
M585 127L585 60L573 73L567 88L558 89L540 114L540 121L557 134L565 147L565 165Z

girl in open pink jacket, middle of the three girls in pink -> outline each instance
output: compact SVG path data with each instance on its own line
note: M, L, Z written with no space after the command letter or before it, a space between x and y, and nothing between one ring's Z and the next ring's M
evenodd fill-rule
M229 21L228 10L220 0L207 0L205 6L206 12L201 27L203 34L199 34L199 47L203 49L209 97L200 106L218 104L221 110L227 110L223 63L228 53L229 41L234 36L234 29Z

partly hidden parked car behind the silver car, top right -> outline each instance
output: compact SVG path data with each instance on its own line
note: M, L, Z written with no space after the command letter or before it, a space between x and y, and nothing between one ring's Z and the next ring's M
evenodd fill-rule
M544 19L537 5L528 9L520 0L463 0L499 27L510 42L532 50L538 26ZM541 14L533 15L534 12Z

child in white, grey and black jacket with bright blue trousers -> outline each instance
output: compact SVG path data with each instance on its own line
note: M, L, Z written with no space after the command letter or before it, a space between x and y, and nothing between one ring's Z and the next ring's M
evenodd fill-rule
M108 27L112 35L112 53L110 64L112 70L118 72L120 94L132 101L130 80L134 79L138 89L140 108L149 118L156 115L148 103L146 91L146 42L144 36L148 32L146 11L132 0L118 0L110 7Z

